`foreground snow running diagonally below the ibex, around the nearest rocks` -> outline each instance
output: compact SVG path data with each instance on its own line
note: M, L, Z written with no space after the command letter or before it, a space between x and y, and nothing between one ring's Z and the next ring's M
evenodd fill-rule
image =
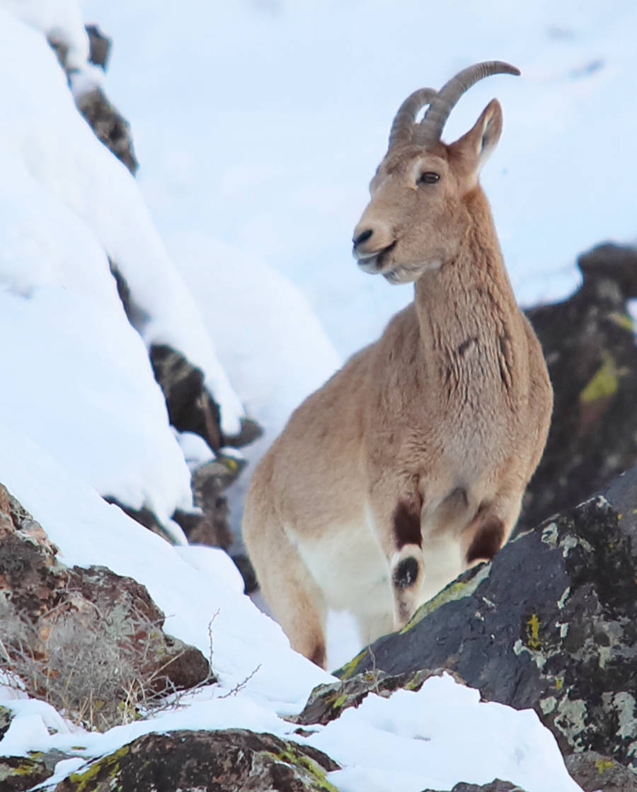
M418 693L398 691L389 700L370 695L336 722L313 727L311 737L298 736L295 725L279 716L298 712L317 683L333 678L293 652L279 626L241 593L225 554L212 548L178 552L105 504L47 451L2 421L0 481L41 521L64 562L105 564L145 584L169 614L169 633L207 653L207 625L216 614L212 661L220 680L176 712L104 735L71 728L42 703L14 703L15 692L0 686L0 705L17 711L0 741L0 755L59 748L88 759L152 730L247 728L327 752L343 766L329 774L341 792L450 789L461 780L487 783L495 777L528 792L579 789L535 713L480 703L478 691L450 677L434 677ZM244 680L236 695L221 698ZM82 759L64 762L58 778L80 764Z

